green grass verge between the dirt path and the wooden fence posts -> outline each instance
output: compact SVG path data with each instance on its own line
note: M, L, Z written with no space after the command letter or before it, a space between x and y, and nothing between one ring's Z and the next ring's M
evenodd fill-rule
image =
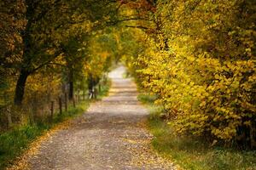
M110 82L108 81L107 85L102 86L102 91L98 94L96 100L102 99L103 96L107 95L109 87ZM91 101L93 102L95 100ZM84 100L75 108L69 105L68 111L64 111L61 115L55 114L53 122L45 119L41 122L15 127L8 132L2 133L0 135L0 169L9 166L15 160L15 157L20 156L38 136L42 135L51 127L55 127L58 123L84 113L89 105L90 101Z

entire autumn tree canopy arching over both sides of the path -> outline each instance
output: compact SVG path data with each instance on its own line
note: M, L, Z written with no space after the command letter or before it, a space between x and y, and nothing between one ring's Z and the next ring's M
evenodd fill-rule
M63 87L73 99L121 60L177 133L255 147L255 10L253 0L3 0L0 105Z

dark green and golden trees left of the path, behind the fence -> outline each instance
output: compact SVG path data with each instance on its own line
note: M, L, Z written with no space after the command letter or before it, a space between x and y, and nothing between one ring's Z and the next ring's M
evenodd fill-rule
M114 60L100 38L111 20L105 16L116 13L116 5L102 0L0 2L0 132L8 124L29 122L31 115L44 121L51 102L57 109L60 99L67 96L74 103L96 88Z

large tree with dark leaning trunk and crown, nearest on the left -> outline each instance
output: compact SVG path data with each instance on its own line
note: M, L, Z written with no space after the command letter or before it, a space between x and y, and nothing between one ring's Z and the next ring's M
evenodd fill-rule
M75 26L83 27L84 22L90 21L100 28L102 22L109 19L108 14L111 14L114 3L99 0L26 1L27 23L22 32L24 46L15 88L16 105L22 102L27 77L62 53L60 42L72 37Z

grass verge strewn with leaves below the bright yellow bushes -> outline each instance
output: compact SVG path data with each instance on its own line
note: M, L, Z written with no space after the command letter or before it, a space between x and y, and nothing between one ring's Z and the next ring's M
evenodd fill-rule
M256 152L211 147L203 139L177 136L171 127L160 119L161 108L153 104L155 97L148 94L138 96L151 112L148 129L154 135L152 145L162 156L175 161L183 169L237 170L256 169Z

